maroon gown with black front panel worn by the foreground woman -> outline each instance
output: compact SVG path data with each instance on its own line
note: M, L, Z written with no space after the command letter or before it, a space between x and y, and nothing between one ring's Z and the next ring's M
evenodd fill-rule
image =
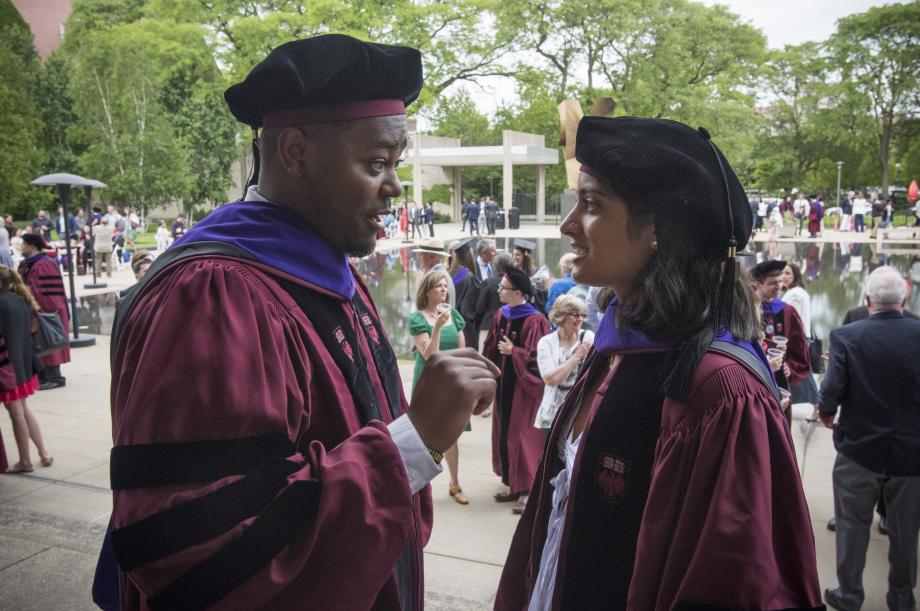
M606 358L598 360L594 370L603 368L605 379L575 459L552 609L821 608L808 508L770 391L734 359L710 352L687 401L662 402L654 396L662 362L654 353L626 355L613 373ZM550 480L564 466L557 446L587 377L553 426L497 610L529 604L552 510ZM608 404L615 383L618 395ZM621 440L649 433L638 444L647 462L621 460L622 448L595 443L616 429L626 432ZM594 450L590 460L586 448Z

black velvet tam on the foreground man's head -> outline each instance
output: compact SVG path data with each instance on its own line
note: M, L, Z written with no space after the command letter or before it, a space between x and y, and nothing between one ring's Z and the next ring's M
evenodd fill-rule
M258 128L263 127L266 114L278 111L316 110L327 118L303 123L319 123L361 118L360 112L334 114L335 109L357 102L398 100L405 108L421 88L422 60L417 49L326 34L275 48L243 82L228 88L224 98L234 117Z

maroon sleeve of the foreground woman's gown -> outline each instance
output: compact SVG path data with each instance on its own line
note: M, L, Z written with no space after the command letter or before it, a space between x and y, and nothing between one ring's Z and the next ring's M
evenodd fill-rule
M740 365L666 399L629 609L821 606L814 534L778 405Z

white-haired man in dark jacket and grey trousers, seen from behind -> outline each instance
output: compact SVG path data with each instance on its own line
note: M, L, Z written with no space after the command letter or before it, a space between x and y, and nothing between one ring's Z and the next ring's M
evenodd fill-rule
M837 579L825 600L859 609L862 571L881 493L888 513L889 609L913 609L920 536L920 321L902 314L907 283L894 268L869 275L869 318L831 331L821 421L834 427Z

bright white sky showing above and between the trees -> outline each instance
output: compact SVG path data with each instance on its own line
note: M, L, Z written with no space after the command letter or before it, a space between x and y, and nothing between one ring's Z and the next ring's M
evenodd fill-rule
M826 40L836 29L839 18L893 2L897 3L895 0L703 0L710 6L727 6L743 21L759 28L771 48ZM479 110L489 115L516 99L511 79L485 79L482 86L469 83L457 86L467 89ZM423 117L421 123L424 128L428 122Z

